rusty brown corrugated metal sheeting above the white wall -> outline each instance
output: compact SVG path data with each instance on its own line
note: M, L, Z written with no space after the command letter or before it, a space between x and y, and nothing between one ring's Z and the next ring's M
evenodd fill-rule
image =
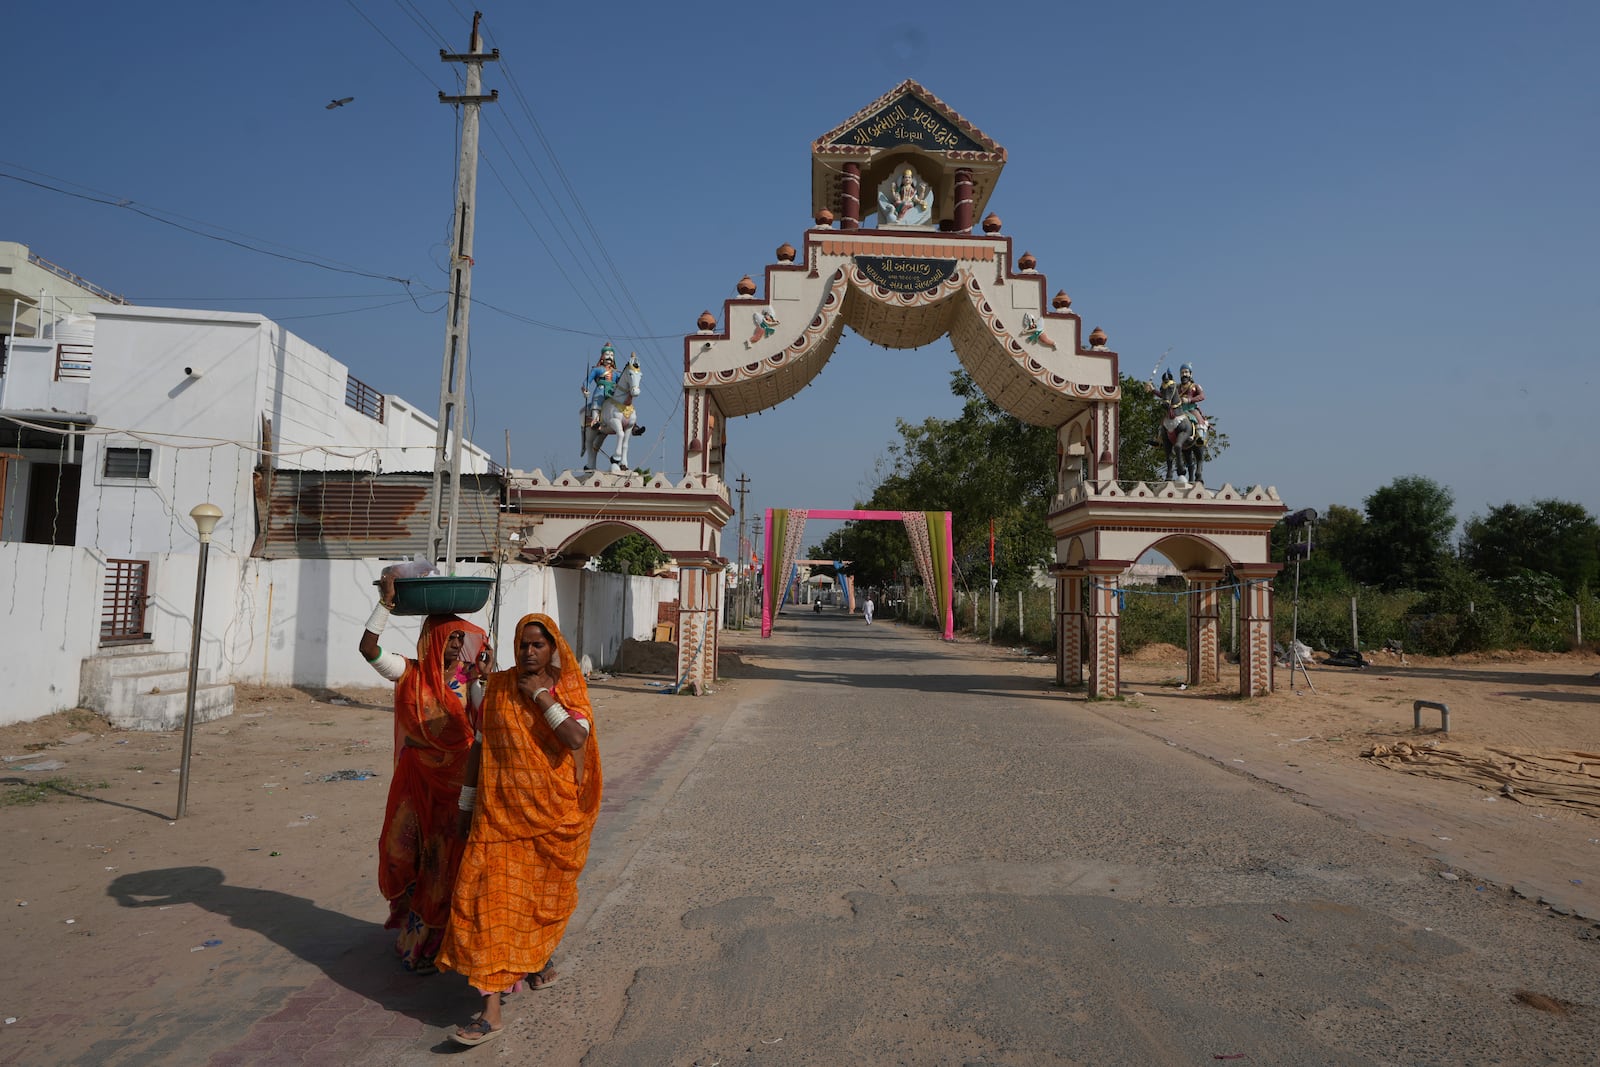
M432 474L258 469L253 555L267 560L426 557L432 485ZM493 558L501 491L499 475L461 475L458 558Z

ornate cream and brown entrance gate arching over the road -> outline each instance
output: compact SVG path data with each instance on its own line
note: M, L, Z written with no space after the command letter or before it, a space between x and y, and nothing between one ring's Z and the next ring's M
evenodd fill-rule
M1090 693L1117 696L1122 574L1162 544L1197 593L1190 680L1216 678L1216 590L1230 569L1245 592L1238 688L1246 696L1269 691L1278 565L1267 561L1267 534L1288 509L1262 486L1118 480L1117 354L1102 330L1083 336L1072 298L1064 290L1050 294L1038 261L1026 251L1014 256L1000 216L984 213L1005 163L1003 147L909 80L818 138L814 227L798 248L778 246L765 285L739 278L722 315L702 312L683 339L682 480L534 472L515 490L523 517L542 514L523 555L560 558L586 539L610 542L627 531L619 510L634 506L670 514L677 522L658 523L651 536L680 563L683 606L694 603L702 616L693 633L688 624L680 629L680 677L709 685L722 601L710 593L728 565L718 537L733 514L728 421L798 394L846 326L890 349L949 338L984 395L1024 422L1056 430L1050 528L1061 681L1085 681L1086 667Z

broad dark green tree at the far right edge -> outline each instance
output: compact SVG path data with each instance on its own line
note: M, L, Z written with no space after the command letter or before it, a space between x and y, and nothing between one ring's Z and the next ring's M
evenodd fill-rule
M1568 501L1501 504L1467 520L1461 558L1491 581L1549 574L1578 595L1600 584L1600 525Z

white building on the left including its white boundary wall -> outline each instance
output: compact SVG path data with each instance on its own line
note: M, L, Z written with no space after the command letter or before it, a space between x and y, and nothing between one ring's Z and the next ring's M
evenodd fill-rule
M378 569L427 552L437 422L262 315L133 307L19 245L0 243L0 723L78 704L181 718L202 502L222 510L202 713L227 713L238 681L374 683L354 648ZM491 573L499 472L470 445L462 472L458 555L482 560L462 573ZM587 616L574 648L608 662L674 593L514 565L502 630L525 611L570 633ZM389 633L414 635L405 619Z

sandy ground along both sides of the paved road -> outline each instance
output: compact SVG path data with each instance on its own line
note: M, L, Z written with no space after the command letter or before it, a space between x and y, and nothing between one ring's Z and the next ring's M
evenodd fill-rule
M739 637L725 638L725 648ZM1232 694L1229 667L1218 685L1181 688L1182 653L1173 648L1126 657L1118 701L1056 689L1048 659L1018 649L994 656L995 670L1037 678L1083 713L1293 790L1373 833L1419 843L1462 880L1576 917L1566 921L1600 921L1600 777L1589 773L1600 755L1582 755L1600 753L1594 654L1405 664L1379 656L1365 670L1317 665L1309 678L1280 669L1278 691L1250 701ZM739 699L736 653L723 675L699 699L664 697L662 680L643 675L592 683L608 803L613 784L626 797L626 782L654 774L664 744L707 709ZM0 728L0 929L16 963L0 981L0 1061L19 1048L30 1062L88 1054L82 1008L58 1003L64 989L94 989L118 1005L122 1014L96 1024L107 1033L158 1014L163 995L206 973L211 949L240 937L226 915L224 878L254 886L246 893L258 897L282 897L299 933L261 933L302 960L296 966L307 976L317 973L317 952L294 937L381 942L386 909L373 870L392 760L389 699L382 688L242 688L230 718L195 729L184 819L173 817L178 733L118 731L82 710ZM1451 731L1438 731L1434 710L1414 729L1416 699L1448 704ZM1442 766L1456 777L1363 755L1397 741L1422 752L1432 742L1432 752L1454 757ZM1480 763L1490 771L1472 777ZM1565 773L1560 787L1517 777L1557 771ZM1509 793L1507 776L1517 782ZM210 872L200 877L214 877L206 907L179 907L184 901L149 875L168 870L186 872L190 885L195 872ZM259 990L262 1005L274 997L282 989ZM413 1017L442 1025L462 1008L438 1003Z

